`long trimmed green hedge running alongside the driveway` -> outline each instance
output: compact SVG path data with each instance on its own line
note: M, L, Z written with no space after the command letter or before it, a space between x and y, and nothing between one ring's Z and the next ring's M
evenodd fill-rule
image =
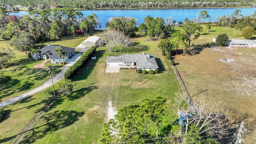
M73 64L73 66L70 66L68 70L66 70L66 72L64 73L64 78L71 79L80 70L80 68L82 68L86 64L86 62L91 59L91 56L92 54L94 54L94 52L96 52L96 46L93 46L92 48L84 52L81 58L77 60L76 63Z

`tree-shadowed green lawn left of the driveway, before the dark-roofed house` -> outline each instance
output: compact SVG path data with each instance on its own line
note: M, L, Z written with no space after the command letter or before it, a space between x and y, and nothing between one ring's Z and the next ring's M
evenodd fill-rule
M49 74L46 68L33 68L34 65L40 64L44 60L27 61L24 52L14 52L16 58L8 62L7 68L2 68L0 74L8 76L7 82L0 84L0 102L4 102L20 94L32 90L48 80ZM56 74L60 68L52 69Z

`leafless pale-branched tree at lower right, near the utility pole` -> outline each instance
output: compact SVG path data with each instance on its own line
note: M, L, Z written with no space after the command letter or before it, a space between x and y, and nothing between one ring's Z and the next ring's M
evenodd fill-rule
M199 126L200 133L216 134L220 138L227 133L227 118L217 104L205 102L202 98L194 104L181 94L176 94L175 101L179 117L184 118L184 134L192 124Z

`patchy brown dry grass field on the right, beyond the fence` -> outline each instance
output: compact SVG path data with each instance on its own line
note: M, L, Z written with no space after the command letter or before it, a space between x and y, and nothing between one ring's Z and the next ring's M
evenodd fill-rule
M242 120L245 126L255 126L255 55L256 48L203 48L196 54L175 56L174 60L183 80L188 82L191 95L208 90L201 96L218 103L231 126ZM256 142L255 136L250 138L246 139L248 144Z

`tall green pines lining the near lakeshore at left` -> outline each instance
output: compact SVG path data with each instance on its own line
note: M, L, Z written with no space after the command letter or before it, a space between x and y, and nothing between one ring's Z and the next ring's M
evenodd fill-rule
M101 28L96 14L84 17L80 11L76 12L72 8L31 11L28 15L18 17L8 15L7 11L0 7L0 35L6 39L28 33L34 37L35 42L45 42L72 36L79 29L92 33L96 28Z

